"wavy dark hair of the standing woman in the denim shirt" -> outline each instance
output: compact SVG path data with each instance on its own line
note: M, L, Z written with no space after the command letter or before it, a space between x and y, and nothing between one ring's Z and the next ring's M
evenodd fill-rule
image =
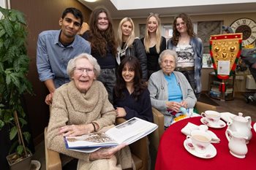
M196 36L193 30L193 24L192 24L191 18L189 17L189 15L185 13L181 13L178 16L176 16L176 18L173 21L173 37L171 39L171 42L173 43L173 45L178 45L178 38L181 35L176 28L178 18L181 18L182 20L184 20L184 23L187 26L187 34L189 34L190 38Z

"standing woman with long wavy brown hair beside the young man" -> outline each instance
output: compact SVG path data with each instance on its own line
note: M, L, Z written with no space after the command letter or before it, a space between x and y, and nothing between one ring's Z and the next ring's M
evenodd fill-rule
M116 83L117 44L110 12L105 7L97 7L91 12L89 31L82 36L91 42L91 55L97 59L101 72L97 80L108 90L108 98L113 102L113 87Z

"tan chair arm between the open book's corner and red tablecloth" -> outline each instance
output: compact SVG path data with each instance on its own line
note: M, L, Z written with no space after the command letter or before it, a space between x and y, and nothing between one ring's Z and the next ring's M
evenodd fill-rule
M162 115L162 113L159 112L154 107L152 107L152 112L153 112L153 121L155 124L158 125L158 128L149 135L149 139L150 139L151 144L157 150L161 136L165 131L165 127L164 127L165 120L164 120L164 115Z

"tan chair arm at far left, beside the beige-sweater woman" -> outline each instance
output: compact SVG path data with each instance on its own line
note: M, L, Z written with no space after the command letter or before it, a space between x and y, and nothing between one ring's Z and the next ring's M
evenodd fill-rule
M59 152L48 150L46 140L47 127L45 128L45 166L46 170L61 170L61 158Z

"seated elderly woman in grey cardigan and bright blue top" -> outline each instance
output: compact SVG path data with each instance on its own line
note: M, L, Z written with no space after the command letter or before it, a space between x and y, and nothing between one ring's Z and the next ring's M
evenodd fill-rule
M174 71L177 58L174 50L164 50L158 60L161 69L148 80L152 107L165 116L165 128L172 124L181 107L193 108L197 102L184 74Z

